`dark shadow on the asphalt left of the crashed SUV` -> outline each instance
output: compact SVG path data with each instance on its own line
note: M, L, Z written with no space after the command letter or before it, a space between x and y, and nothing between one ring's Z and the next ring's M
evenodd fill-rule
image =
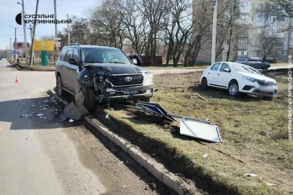
M11 123L10 130L55 129L76 126L67 119L63 123L53 119L63 111L64 105L54 97L19 99L0 102L0 124ZM0 125L1 126L1 125Z

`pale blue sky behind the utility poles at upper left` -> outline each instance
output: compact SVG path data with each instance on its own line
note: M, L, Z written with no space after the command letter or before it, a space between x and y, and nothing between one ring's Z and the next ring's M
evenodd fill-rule
M23 42L23 24L19 25L15 22L17 14L21 13L21 5L17 4L21 0L0 0L0 49L6 49L9 46L11 38L14 42L15 29L10 27L18 27L17 42ZM37 0L24 0L24 11L26 14L35 14ZM87 17L88 10L99 5L101 0L56 0L57 19L66 20L66 14L70 16ZM39 0L38 14L54 14L54 0ZM29 24L26 24L26 28ZM67 27L67 24L58 24L58 31ZM26 39L30 43L30 30L26 29ZM36 40L43 36L54 36L55 25L38 24L36 30Z

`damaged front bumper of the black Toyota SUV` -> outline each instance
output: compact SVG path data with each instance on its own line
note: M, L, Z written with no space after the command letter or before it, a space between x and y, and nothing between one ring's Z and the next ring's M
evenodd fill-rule
M127 101L151 98L153 95L153 82L133 87L107 87L106 92L96 94L97 101Z

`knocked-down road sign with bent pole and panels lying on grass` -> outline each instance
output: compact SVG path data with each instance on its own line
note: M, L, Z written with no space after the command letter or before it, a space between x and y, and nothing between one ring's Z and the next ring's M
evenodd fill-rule
M130 106L126 104L114 104L119 107L131 108L140 111L145 111L150 114L155 114L162 116L167 121L174 122L174 118L180 118L180 133L183 135L221 143L221 135L218 126L211 124L209 121L203 121L198 119L193 119L185 116L180 116L176 114L167 113L167 111L162 108L159 104L148 103L148 102L138 102L139 107Z

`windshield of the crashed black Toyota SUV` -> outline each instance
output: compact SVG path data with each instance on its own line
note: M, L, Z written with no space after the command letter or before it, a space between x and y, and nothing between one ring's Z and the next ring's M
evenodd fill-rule
M131 64L126 55L113 48L82 48L84 63Z

